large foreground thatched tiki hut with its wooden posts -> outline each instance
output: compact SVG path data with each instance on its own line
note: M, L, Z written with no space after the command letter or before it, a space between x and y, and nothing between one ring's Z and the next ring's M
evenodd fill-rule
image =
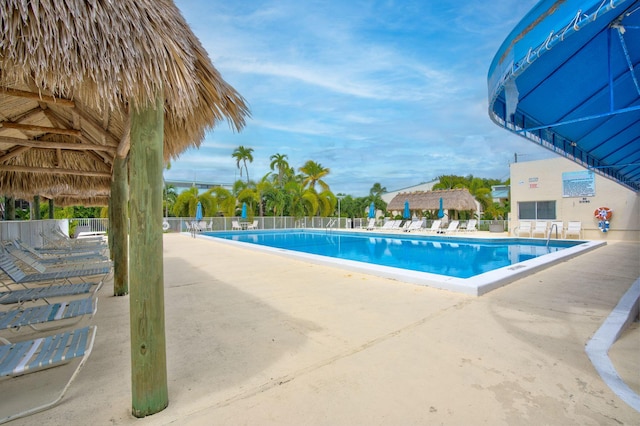
M222 120L240 130L247 105L169 0L3 1L0 27L0 194L108 200L114 286L130 289L132 411L161 411L163 164Z

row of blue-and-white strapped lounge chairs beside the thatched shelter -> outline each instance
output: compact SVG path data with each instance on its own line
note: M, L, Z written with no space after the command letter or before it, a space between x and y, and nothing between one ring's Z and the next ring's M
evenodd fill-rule
M46 410L62 400L86 363L97 331L95 326L71 330L69 328L83 319L92 318L96 313L98 299L93 296L110 270L110 263L104 261L74 264L58 258L55 263L52 262L53 266L45 266L41 262L44 258L15 258L16 254L0 250L0 270L7 289L0 292L0 305L7 307L0 311L0 331L10 330L18 333L22 328L29 327L36 331L36 337L30 336L26 340L12 342L0 336L0 379L36 373L70 363L75 366L69 367L70 374L64 387L48 402L17 413L3 412L0 415L0 423ZM36 262L31 262L34 258ZM30 268L36 272L27 273L23 268ZM98 282L69 283L71 278L85 279L94 276L99 277ZM67 284L48 281L51 278ZM21 288L15 289L16 285L20 285ZM61 298L64 300L54 300ZM61 328L66 330L49 334ZM11 340L14 339L13 336L14 333ZM20 338L19 334L15 336L18 336L16 340Z

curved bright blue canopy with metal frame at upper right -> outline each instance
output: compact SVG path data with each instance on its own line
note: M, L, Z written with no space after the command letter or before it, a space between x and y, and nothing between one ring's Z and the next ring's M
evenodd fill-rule
M498 125L640 191L640 0L543 0L491 63Z

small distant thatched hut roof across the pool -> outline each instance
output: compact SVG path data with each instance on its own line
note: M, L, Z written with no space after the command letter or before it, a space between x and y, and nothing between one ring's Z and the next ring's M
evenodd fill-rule
M440 198L445 210L476 210L476 199L466 188L441 191L401 192L387 205L389 211L404 210L404 202L409 201L411 211L439 210Z

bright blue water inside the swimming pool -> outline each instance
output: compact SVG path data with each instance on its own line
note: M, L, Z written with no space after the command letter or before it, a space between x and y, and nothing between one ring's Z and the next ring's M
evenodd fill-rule
M205 235L338 259L469 278L580 244L576 241L447 238L412 234L278 230Z

